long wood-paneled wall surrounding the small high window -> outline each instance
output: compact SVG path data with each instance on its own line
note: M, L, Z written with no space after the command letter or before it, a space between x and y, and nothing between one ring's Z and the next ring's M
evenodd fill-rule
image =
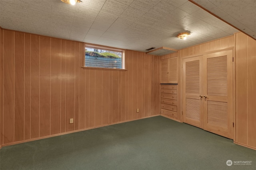
M159 57L126 50L126 71L88 70L84 43L5 29L0 39L2 146L160 113Z

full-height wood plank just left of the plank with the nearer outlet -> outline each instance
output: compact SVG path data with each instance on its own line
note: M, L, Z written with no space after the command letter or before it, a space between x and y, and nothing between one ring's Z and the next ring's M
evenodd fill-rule
M60 132L66 131L66 40L61 40L61 58L60 58L60 74L61 74L61 101L60 101Z

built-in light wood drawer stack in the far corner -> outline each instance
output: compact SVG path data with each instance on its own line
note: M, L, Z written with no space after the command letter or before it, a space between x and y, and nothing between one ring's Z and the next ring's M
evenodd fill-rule
M177 119L177 85L161 84L161 114Z

